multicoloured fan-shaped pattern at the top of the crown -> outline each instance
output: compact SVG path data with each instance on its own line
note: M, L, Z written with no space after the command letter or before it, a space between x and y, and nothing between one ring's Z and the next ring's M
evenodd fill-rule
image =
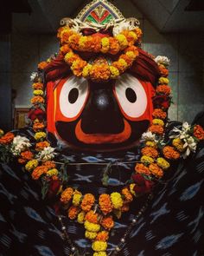
M109 23L115 19L124 19L122 13L106 0L93 0L80 11L77 19L86 23Z

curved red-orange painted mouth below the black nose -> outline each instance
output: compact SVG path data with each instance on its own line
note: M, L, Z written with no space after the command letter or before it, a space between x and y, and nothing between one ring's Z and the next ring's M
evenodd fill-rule
M81 128L81 119L78 121L75 128L75 135L77 139L86 144L108 144L121 143L128 140L131 136L131 125L124 119L124 130L117 135L107 134L86 134Z

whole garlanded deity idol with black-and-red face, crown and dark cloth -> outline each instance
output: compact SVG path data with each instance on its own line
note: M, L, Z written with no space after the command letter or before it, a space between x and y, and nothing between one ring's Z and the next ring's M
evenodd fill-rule
M2 255L201 255L204 131L168 119L169 59L106 0L61 25L30 128L0 138Z

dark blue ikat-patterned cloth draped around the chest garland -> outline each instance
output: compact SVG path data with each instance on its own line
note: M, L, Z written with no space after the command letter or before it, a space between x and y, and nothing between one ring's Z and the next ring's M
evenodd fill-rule
M68 167L69 182L93 194L119 191L131 175L137 152L118 154L81 154L64 152L61 158L70 162L118 162L112 165L109 186L101 183L104 167L80 165ZM133 227L118 255L176 256L204 255L204 148L180 161L169 174L169 181L156 187L155 197ZM61 238L61 224L52 204L41 200L41 187L23 172L16 162L0 165L0 256L62 256L71 255ZM116 246L145 197L136 200L131 210L117 220L109 240L109 250ZM67 233L80 248L81 255L92 255L85 239L83 225L62 218ZM109 251L110 252L110 251Z

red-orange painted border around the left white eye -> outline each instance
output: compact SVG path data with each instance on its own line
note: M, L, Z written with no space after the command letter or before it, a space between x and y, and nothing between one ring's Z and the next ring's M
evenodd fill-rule
M54 89L54 95L56 94L56 98L54 99L54 102L56 101L55 102L55 104L56 104L55 105L56 106L55 121L75 121L80 117L83 109L86 106L86 102L87 102L89 92L90 92L89 85L87 88L86 99L77 115L75 115L73 117L67 117L67 116L63 115L63 113L61 112L61 105L60 105L61 104L61 102L60 102L61 89L63 88L63 85L65 84L65 82L67 82L67 80L70 79L71 77L73 77L73 75L61 79L61 82L59 82L59 84L57 85L57 88Z

